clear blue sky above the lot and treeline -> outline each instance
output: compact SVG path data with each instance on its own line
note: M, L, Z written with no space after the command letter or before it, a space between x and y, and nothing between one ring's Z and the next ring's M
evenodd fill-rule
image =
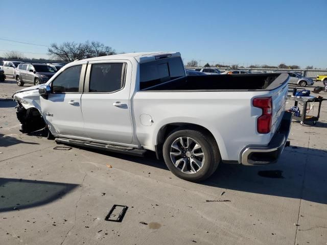
M326 9L327 0L2 1L0 56L49 58L51 43L94 40L116 52L177 51L185 64L327 68Z

